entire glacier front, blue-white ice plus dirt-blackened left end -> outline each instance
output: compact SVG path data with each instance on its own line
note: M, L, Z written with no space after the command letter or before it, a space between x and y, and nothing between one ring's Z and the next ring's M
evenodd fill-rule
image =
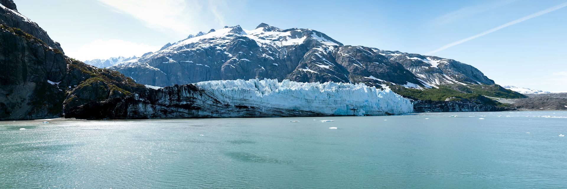
M147 89L126 106L126 118L376 116L413 112L411 100L362 83L277 79L205 81Z

